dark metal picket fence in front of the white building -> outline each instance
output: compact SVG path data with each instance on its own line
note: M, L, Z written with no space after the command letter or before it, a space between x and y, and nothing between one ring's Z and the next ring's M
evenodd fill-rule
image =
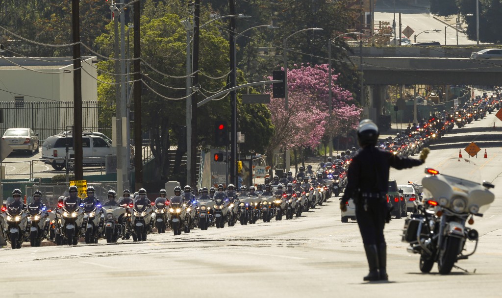
M39 139L58 134L73 125L73 101L2 101L4 121L0 123L0 133L8 128L31 128L39 134ZM111 126L99 127L98 118L102 107L97 101L82 102L83 130L99 131L111 136Z

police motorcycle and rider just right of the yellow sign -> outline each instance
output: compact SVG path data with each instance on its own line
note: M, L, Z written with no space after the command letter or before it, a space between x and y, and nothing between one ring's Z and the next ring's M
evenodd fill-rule
M85 211L82 228L85 230L85 243L97 243L103 231L104 214L99 200L94 197L95 189L87 188L87 198L82 200L82 208Z

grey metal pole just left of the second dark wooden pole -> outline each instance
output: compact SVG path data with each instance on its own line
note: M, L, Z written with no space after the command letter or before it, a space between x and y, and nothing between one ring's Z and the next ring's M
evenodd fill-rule
M114 18L113 18L113 37L114 37L114 50L113 58L115 58L115 155L117 157L117 192L121 193L123 188L123 169L122 162L122 98L121 98L121 84L120 84L120 74L121 74L121 62L119 60L120 45L119 45L119 32L118 32L118 21L120 18L120 5L121 3L116 2L113 7Z

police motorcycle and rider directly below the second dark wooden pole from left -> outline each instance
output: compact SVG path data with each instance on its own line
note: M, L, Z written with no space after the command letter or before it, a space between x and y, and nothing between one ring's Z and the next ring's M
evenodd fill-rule
M131 209L131 224L133 226L133 241L146 241L155 220L153 202L147 198L147 191L141 188L134 198Z

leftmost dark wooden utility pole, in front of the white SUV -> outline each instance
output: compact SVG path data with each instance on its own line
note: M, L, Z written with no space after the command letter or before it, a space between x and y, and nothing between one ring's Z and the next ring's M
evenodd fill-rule
M72 21L72 42L73 45L73 120L74 129L73 143L75 152L75 164L73 173L75 180L83 180L83 153L82 153L82 72L81 72L81 55L80 55L80 16L79 16L79 0L71 1L71 21Z

